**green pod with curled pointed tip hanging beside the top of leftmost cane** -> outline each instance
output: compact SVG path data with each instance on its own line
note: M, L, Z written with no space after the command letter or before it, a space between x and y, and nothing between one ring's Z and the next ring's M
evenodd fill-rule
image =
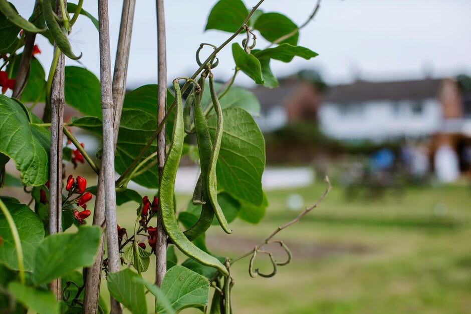
M42 0L43 3L43 15L44 20L46 20L46 25L48 26L49 33L54 38L54 42L56 43L57 47L70 59L78 60L82 58L82 54L80 56L74 55L72 52L72 48L70 47L69 40L67 39L68 31L64 30L56 21L56 14L54 13L51 1L49 0Z

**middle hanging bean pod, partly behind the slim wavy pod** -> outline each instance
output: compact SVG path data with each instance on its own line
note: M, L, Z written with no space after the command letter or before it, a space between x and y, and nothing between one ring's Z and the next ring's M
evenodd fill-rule
M205 76L202 75L201 79L199 80L201 88L204 88L204 79ZM209 128L206 117L204 116L204 112L201 107L202 94L203 93L196 95L193 108L193 117L196 130L196 139L198 140L199 160L201 165L201 200L205 201L205 204L202 205L201 214L199 215L198 221L191 228L184 232L190 241L196 239L201 234L206 232L206 230L211 226L212 220L214 218L214 208L211 202L207 201L207 175L209 170L209 161L212 154L212 144L211 137L209 136ZM198 187L198 184L196 184L196 186Z

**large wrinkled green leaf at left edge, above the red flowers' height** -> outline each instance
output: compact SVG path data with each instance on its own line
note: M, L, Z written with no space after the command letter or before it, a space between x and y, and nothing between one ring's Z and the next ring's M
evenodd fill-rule
M0 153L15 161L24 185L39 186L48 180L48 133L29 123L19 103L0 95Z

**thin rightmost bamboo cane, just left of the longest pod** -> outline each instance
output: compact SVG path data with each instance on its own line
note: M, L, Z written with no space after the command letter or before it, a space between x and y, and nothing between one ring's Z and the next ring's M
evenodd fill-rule
M159 172L159 188L163 173L163 166L165 164L165 121L166 116L166 101L167 101L167 55L166 55L166 41L165 41L165 13L163 8L163 0L156 0L156 14L157 14L157 75L158 75L158 109L157 109L157 124L162 125L161 131L157 137L157 160ZM162 225L162 218L160 212L157 215L157 243L155 247L155 284L162 285L163 277L167 271L167 234ZM157 297L155 297L157 303Z

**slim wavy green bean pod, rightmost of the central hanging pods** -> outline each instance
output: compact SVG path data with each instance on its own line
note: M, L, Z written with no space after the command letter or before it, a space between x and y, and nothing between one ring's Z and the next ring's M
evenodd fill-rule
M209 73L209 91L211 93L212 104L217 117L217 127L216 133L214 135L214 145L212 146L211 159L209 160L209 170L207 177L208 196L209 201L214 208L214 214L216 215L222 230L224 230L226 233L232 233L232 230L229 228L229 224L224 217L224 213L222 212L222 209L217 202L216 163L217 157L219 156L219 149L221 148L222 126L224 122L222 119L221 105L219 104L219 100L217 99L216 91L214 89L214 76L212 73Z

